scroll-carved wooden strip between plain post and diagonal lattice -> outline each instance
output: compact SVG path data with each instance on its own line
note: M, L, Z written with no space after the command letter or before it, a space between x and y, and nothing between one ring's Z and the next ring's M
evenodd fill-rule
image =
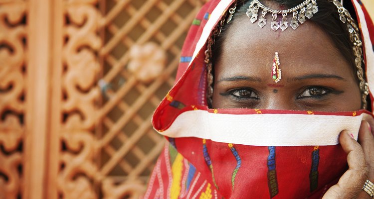
M65 43L62 49L62 114L60 171L57 190L66 199L98 198L93 189L97 174L93 130L100 96L96 76L100 65L96 52L100 14L97 0L65 0Z

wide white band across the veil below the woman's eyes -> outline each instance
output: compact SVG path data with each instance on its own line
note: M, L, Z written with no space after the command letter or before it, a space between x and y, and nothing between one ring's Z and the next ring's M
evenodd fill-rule
M357 140L361 120L357 116L313 114L219 114L190 110L178 115L160 134L197 137L216 142L251 146L325 146L339 143L348 130Z

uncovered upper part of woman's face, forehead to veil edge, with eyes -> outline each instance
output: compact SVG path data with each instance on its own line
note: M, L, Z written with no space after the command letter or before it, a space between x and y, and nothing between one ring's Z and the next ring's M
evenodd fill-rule
M353 111L361 92L351 66L328 35L307 21L276 32L238 17L214 65L213 108ZM278 52L282 78L271 71ZM214 55L213 55L214 56Z

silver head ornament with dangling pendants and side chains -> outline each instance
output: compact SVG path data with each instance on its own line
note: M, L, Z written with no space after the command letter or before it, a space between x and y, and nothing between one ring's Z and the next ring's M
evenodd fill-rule
M357 70L357 77L360 81L359 86L362 93L362 105L363 109L367 108L367 96L369 95L369 85L364 79L364 70L363 66L365 66L363 56L363 46L362 41L359 35L359 28L355 23L354 19L352 18L351 14L348 12L346 8L343 7L343 1L339 0L328 0L329 2L334 3L337 7L339 12L339 19L347 25L347 29L349 31L350 40L353 44L353 52L355 55L355 65ZM228 13L222 17L219 21L217 27L213 30L211 37L207 40L207 49L205 51L205 63L207 67L207 81L208 81L208 88L207 88L207 101L208 105L211 106L212 104L212 95L213 95L213 75L212 75L212 64L211 64L211 46L214 44L215 37L218 36L221 32L221 29L224 23L229 23L233 17L233 14L236 10L237 2L228 9ZM262 9L262 15L259 19L258 25L262 28L266 25L265 15L269 12L272 14L272 22L271 22L271 29L277 31L279 28L281 30L285 30L288 27L287 15L288 13L292 12L292 19L290 21L290 26L293 29L296 29L299 26L299 22L302 24L305 22L306 18L313 17L313 14L318 12L317 0L304 0L299 5L287 9L287 10L274 10L264 6L259 0L253 0L248 9L247 9L247 16L250 18L250 21L254 23L258 17L258 10ZM228 14L228 16L226 16ZM282 21L276 21L278 14L282 15ZM299 14L299 15L298 15ZM226 20L227 17L227 20Z

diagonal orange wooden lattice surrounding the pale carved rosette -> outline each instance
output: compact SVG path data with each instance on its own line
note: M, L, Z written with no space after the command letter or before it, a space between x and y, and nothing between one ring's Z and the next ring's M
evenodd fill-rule
M98 185L104 198L137 198L164 138L152 128L152 113L174 84L187 30L202 0L106 0L99 50L103 101L97 128ZM163 73L143 83L127 70L134 45L156 43L167 55Z

